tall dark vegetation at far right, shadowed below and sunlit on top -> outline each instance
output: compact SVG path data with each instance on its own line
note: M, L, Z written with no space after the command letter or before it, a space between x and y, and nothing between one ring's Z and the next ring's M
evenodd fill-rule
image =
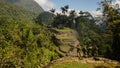
M103 11L103 24L106 24L105 32L103 31L103 40L107 44L107 57L120 60L120 12L117 4L111 6L112 0L101 1Z

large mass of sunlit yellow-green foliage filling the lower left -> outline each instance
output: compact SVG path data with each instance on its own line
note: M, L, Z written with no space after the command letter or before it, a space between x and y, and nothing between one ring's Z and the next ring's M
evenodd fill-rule
M42 67L59 57L45 27L6 18L0 19L0 23L1 67Z

